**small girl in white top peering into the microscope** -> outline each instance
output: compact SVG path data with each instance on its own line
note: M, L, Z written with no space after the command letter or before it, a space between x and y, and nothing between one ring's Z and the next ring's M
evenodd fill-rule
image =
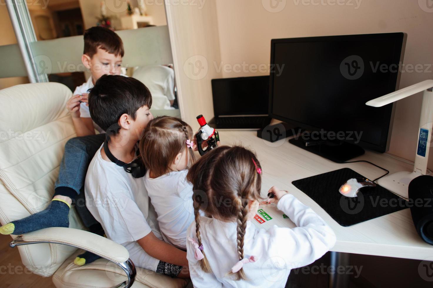
M186 181L194 162L192 129L184 121L157 117L146 126L139 143L147 168L145 188L158 215L165 242L186 250L186 231L194 221L192 185Z

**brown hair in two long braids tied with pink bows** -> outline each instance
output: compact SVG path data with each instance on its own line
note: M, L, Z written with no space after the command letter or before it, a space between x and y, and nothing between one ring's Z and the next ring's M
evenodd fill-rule
M187 180L193 184L194 189L193 201L198 245L202 244L198 213L199 210L202 210L205 214L217 219L236 220L238 257L239 260L244 258L243 246L249 214L248 204L249 201L262 199L260 197L262 177L257 173L257 168L261 168L260 162L249 149L241 146L220 146L207 152L189 169ZM226 203L232 203L232 205L226 205ZM203 255L204 259L199 262L200 267L204 272L210 272L206 255L204 253ZM246 279L243 269L234 275L236 280Z

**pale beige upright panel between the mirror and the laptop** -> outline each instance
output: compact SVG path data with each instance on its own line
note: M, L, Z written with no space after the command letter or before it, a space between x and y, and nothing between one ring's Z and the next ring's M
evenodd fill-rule
M216 25L215 1L188 0L167 5L174 73L182 119L197 129L196 116L213 117L210 81L221 78L221 72L210 68L220 62L220 43ZM204 3L204 5L202 5Z

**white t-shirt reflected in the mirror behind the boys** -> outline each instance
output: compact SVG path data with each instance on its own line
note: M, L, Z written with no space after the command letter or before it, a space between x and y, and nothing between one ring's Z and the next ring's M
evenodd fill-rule
M139 67L132 74L149 89L152 94L153 109L174 109L170 100L174 100L174 71L164 65Z

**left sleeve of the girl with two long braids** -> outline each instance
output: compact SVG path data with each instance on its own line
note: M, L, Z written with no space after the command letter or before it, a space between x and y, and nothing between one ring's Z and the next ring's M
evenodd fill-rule
M190 227L188 227L187 235L191 235L192 238L196 239L195 236L191 234L191 229L194 227L195 230L195 222L193 222ZM195 233L194 233L195 234ZM190 277L192 284L194 287L202 288L202 287L223 287L222 283L216 279L213 273L205 273L198 261L194 257L194 246L192 246L191 242L187 239L187 260L188 267L190 270Z

